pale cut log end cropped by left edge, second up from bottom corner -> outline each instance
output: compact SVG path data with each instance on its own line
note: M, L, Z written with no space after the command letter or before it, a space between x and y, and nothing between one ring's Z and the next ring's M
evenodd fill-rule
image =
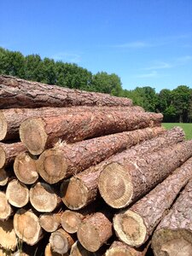
M6 220L12 214L12 208L4 192L0 191L0 220Z

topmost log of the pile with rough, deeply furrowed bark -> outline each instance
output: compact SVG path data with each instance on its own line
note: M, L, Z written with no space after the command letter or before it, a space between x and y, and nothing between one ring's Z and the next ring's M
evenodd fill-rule
M67 107L82 105L132 106L128 98L70 90L56 85L0 76L0 108Z

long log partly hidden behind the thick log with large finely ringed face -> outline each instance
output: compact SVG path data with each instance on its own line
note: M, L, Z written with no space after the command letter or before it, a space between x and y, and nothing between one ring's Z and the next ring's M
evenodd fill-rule
M179 127L175 127L166 131L159 137L154 137L151 140L112 156L96 166L91 166L84 172L80 172L72 178L63 181L61 184L62 201L71 210L78 210L85 207L91 201L96 200L99 175L109 163L118 160L119 157L128 158L128 155L129 158L132 158L134 155L151 154L154 150L158 150L163 146L167 147L174 143L182 142L183 139L183 130ZM73 193L73 191L76 191L76 193Z

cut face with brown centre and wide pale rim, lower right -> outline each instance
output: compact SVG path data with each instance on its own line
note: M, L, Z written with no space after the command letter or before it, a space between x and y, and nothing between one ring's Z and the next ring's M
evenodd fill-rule
M113 218L114 230L121 241L131 247L139 247L146 237L146 226L136 212L126 211Z

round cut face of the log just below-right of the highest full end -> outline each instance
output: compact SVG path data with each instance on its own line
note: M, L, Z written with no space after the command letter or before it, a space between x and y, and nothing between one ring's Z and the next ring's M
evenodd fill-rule
M67 173L67 163L61 150L45 150L38 159L38 173L50 184L63 179Z

